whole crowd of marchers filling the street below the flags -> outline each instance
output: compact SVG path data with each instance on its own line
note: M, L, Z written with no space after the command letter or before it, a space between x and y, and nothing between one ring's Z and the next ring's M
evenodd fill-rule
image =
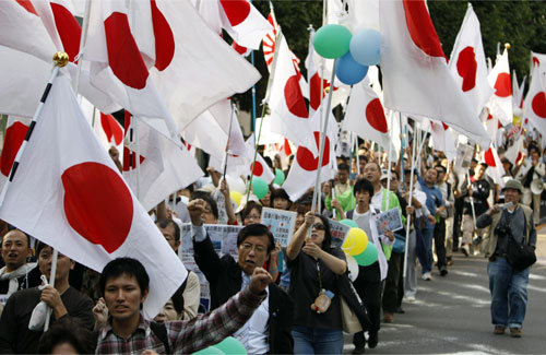
M511 239L536 245L536 181L542 186L546 174L541 145L529 140L517 164L499 150L502 181L488 176L477 152L464 170L437 151L412 156L407 147L391 164L367 142L355 153L337 158L336 176L321 191L297 201L270 186L262 199L234 205L226 179L210 168L151 211L173 252L182 248L182 225L191 225L193 258L210 288L203 309L204 280L190 271L153 321L141 312L150 277L140 261L116 259L97 273L59 253L51 275L51 248L4 224L0 353L192 353L233 335L248 354L341 354L348 307L359 323L353 353L363 354L380 342L381 322L394 322L403 303L418 297L418 279L449 277L458 251L488 258L494 333L521 336L530 267L515 268L508 253ZM277 158L269 163L281 167ZM311 211L316 196L319 209ZM261 224L263 206L297 213L287 246ZM375 216L392 209L403 227L380 234ZM356 277L332 244L332 222L342 220L354 221L378 250ZM215 250L204 225L218 223L244 226L236 258ZM40 304L51 309L46 332Z

